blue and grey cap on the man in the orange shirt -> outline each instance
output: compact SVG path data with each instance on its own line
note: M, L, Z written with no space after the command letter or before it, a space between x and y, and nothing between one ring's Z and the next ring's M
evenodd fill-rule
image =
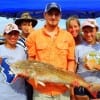
M45 12L48 12L50 11L51 9L57 9L59 12L61 12L61 7L60 5L58 5L57 3L55 2L51 2L51 3L48 3L45 7Z

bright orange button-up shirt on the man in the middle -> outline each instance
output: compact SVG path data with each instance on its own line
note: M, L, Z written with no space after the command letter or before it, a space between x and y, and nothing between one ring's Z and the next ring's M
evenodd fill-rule
M50 63L63 70L68 69L69 61L75 60L74 39L70 33L60 28L58 28L58 32L53 38L45 32L45 27L35 30L27 38L26 45L28 47L29 59ZM60 94L67 90L65 85L54 83L46 83L45 87L41 85L38 85L38 87L33 86L38 91L50 95Z

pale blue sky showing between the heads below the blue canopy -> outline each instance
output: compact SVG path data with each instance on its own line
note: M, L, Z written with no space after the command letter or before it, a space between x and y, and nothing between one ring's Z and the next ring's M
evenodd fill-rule
M79 19L80 22L82 23L85 19ZM100 26L100 18L96 18L97 23ZM8 23L14 22L14 20L12 18L6 18L6 17L0 17L0 35L2 35L3 31L4 31L4 27L5 25L7 25ZM38 24L36 25L35 29L37 28L41 28L44 25L45 21L43 19L38 20ZM59 22L59 26L63 29L66 29L66 20L61 19Z

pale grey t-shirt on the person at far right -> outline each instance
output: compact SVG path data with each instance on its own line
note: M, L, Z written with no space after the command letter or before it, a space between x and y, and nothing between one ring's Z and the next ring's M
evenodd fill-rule
M89 45L84 42L76 46L75 53L76 62L78 63L77 73L88 82L100 83L100 71L90 71L84 67L84 58L88 57L91 53L94 53L94 58L100 61L100 43Z

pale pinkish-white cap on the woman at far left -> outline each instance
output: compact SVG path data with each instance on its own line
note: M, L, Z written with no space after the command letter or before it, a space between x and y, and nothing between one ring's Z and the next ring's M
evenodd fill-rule
M19 31L19 29L18 29L16 24L14 24L14 23L7 24L5 29L4 29L4 33L8 34L8 33L12 32L12 31L17 31L17 32L20 33L20 31Z

